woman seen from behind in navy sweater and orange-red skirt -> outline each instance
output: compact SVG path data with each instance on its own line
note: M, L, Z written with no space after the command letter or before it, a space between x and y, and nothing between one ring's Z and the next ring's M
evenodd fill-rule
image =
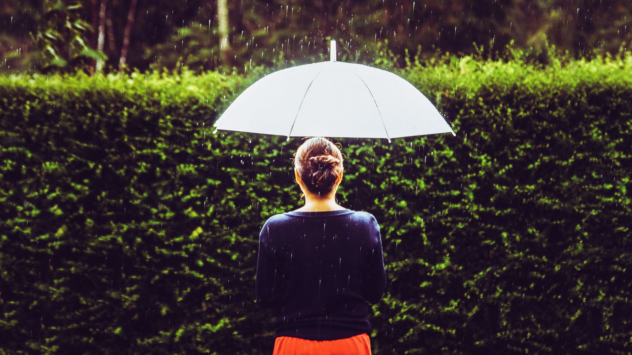
M371 354L367 301L386 287L380 227L336 203L343 156L334 143L306 140L294 168L305 206L273 215L259 234L255 288L276 313L273 355Z

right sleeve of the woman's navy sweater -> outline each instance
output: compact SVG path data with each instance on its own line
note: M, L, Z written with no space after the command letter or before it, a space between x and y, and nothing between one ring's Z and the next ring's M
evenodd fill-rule
M377 220L371 215L370 220L371 248L367 253L365 262L365 272L362 280L362 296L368 303L378 303L382 299L386 289L386 268L384 268L384 258L382 256L382 238L380 236L380 226Z

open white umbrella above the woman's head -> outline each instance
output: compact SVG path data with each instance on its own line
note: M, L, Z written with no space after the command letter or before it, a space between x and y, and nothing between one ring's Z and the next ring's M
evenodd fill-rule
M217 129L288 136L391 138L456 133L432 102L398 75L362 64L305 64L264 76L215 122Z

